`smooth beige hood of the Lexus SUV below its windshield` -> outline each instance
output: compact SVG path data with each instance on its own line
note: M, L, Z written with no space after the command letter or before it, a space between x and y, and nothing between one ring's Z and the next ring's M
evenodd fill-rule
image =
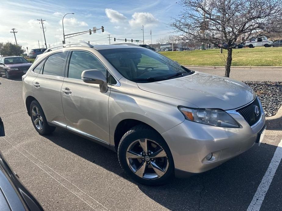
M180 78L137 85L144 91L184 100L199 108L235 109L255 98L252 88L242 82L197 71Z

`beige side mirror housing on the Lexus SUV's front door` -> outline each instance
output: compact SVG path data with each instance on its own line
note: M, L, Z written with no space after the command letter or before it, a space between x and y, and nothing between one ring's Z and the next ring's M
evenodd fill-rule
M105 75L98 70L84 70L81 79L88 84L99 84L100 92L108 91L108 83Z

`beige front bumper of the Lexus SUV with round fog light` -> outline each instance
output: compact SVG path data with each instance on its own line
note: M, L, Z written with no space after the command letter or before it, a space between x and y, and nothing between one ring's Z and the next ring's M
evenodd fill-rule
M237 112L229 113L240 128L210 126L185 120L162 133L170 147L177 177L208 171L250 149L265 126L265 114L252 127ZM216 159L205 157L213 153ZM182 172L182 173L181 173Z

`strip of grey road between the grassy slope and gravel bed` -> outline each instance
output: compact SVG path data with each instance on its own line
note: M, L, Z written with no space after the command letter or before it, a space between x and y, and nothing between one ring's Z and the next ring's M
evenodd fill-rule
M188 67L191 70L224 76L224 68ZM239 81L282 81L281 69L232 69L230 78Z

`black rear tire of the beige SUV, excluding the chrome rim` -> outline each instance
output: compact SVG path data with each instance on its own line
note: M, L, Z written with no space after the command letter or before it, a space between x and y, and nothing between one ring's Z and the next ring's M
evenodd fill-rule
M36 106L38 108L38 110L40 111L40 116L42 117L42 122L43 122L43 126L42 129L37 128L37 126L34 123L34 119L33 119L33 113L32 113L32 109L34 108L34 106ZM41 108L39 102L37 102L37 100L34 100L30 103L30 108L29 108L29 112L30 112L30 118L31 118L31 122L35 128L35 130L40 134L40 135L47 135L52 133L56 127L50 126L47 123L47 119L45 117L45 114L43 112L43 109ZM37 116L38 117L38 116Z

